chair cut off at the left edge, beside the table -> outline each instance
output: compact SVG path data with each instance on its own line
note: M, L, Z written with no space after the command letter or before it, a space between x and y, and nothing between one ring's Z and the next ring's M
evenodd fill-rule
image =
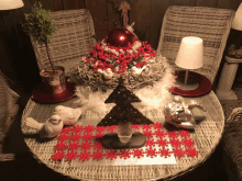
M0 161L14 159L13 154L3 154L2 147L8 131L19 112L20 95L12 91L0 71Z

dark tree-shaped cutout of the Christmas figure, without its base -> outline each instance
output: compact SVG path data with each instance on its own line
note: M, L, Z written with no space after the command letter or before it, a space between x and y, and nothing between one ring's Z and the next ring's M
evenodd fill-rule
M153 124L139 110L136 110L131 102L141 102L141 100L128 90L122 78L120 78L119 86L113 90L105 103L116 103L117 105L101 120L97 126L118 125L119 122L142 125Z

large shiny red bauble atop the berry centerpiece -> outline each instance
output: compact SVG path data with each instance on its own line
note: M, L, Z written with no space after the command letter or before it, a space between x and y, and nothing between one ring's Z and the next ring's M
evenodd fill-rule
M109 32L107 37L107 44L116 47L128 47L133 44L133 34L127 29L116 29Z

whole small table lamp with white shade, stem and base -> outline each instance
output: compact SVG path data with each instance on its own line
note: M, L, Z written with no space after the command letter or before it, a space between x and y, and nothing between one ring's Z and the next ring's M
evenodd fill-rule
M202 39L196 36L187 36L182 39L179 50L175 61L176 66L186 69L184 77L177 77L176 84L182 90L195 90L198 88L196 79L188 78L190 69L198 69L204 66Z

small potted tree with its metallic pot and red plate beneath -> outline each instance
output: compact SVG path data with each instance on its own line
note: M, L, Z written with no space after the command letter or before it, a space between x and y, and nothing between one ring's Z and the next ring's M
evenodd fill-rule
M51 11L43 9L41 2L35 2L32 12L24 15L23 31L30 35L32 42L46 47L50 64L50 66L43 65L45 68L40 72L42 83L34 88L34 99L44 103L54 103L73 98L75 95L74 83L67 83L64 67L54 66L50 56L51 38L56 31Z

